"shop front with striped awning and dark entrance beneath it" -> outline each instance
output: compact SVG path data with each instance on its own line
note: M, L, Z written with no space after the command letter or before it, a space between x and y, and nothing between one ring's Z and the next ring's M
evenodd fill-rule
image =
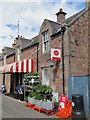
M6 86L6 92L14 93L16 86L22 84L24 73L34 72L34 61L33 59L24 59L0 68L0 73L3 75L3 84Z

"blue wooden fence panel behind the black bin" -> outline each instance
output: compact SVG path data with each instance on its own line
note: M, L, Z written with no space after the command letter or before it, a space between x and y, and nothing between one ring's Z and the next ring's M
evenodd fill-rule
M73 94L80 94L84 99L84 109L87 117L90 117L90 76L68 77L68 98Z

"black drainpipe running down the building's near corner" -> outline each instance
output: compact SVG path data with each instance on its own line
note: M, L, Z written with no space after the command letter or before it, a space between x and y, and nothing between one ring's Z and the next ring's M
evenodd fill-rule
M62 37L62 77L63 77L63 94L65 95L65 76L64 76L64 32L65 32L66 28L62 27L61 28L61 37Z

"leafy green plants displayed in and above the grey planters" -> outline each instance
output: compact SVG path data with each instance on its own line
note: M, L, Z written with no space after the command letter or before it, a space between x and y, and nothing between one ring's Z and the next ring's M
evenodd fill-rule
M34 83L32 84L32 78L34 79ZM25 74L25 82L28 82L25 90L29 91L29 97L33 97L37 100L51 100L52 99L52 89L50 86L41 85L40 79L38 77L38 73L27 73ZM51 97L48 97L50 96Z

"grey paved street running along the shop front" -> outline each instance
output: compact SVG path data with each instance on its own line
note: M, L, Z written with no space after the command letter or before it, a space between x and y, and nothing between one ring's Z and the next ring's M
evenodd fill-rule
M0 93L0 113L2 118L57 118L55 115L47 116L25 106L24 101L16 100ZM2 110L2 112L1 112Z

